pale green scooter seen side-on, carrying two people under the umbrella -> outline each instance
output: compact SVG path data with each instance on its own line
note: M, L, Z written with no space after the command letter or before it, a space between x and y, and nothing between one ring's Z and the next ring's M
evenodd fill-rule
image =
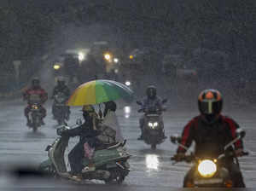
M68 136L61 136L64 130L70 130L70 127L62 125L57 129L57 135L55 142L47 146L45 151L48 152L49 159L45 160L39 166L39 171L49 173L53 177L60 177L63 179L70 178L67 176L67 165L64 160L64 153L69 141ZM125 149L124 142L116 142L114 145L106 146L104 149L96 150L93 155L95 171L83 171L82 180L102 180L105 183L117 182L118 184L124 182L125 177L130 172L130 165L128 159L131 157ZM83 159L83 166L89 165L87 158ZM77 180L80 182L80 180Z

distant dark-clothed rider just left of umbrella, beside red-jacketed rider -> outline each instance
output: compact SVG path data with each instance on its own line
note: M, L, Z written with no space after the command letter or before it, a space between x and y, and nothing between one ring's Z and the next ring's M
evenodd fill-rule
M66 81L64 78L58 78L57 80L57 85L55 86L54 90L53 90L53 94L52 94L52 99L58 94L58 93L62 93L64 96L68 97L70 96L70 90L67 87ZM55 118L55 111L56 111L56 106L55 104L52 105L52 114ZM67 106L67 120L69 118L69 114L70 114L70 107Z

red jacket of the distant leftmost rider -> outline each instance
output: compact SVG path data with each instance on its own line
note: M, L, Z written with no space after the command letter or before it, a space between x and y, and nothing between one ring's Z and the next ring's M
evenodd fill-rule
M39 87L38 89L29 88L23 93L23 99L31 104L32 101L40 101L40 103L44 103L48 99L47 92Z

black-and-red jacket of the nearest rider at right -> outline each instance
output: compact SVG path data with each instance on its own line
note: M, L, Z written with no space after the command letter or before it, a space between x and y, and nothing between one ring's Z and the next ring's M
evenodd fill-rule
M190 147L195 141L195 155L216 157L224 152L224 146L236 138L239 125L229 117L219 115L212 124L207 123L202 115L189 121L183 129L181 143ZM235 142L235 149L243 148L242 141ZM177 148L177 152L186 152L184 148Z

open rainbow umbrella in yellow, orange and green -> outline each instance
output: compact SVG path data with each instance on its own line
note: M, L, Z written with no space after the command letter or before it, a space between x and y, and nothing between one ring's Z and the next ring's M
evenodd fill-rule
M68 106L96 105L102 102L124 99L131 101L133 92L124 84L112 80L97 79L81 84L67 101Z

